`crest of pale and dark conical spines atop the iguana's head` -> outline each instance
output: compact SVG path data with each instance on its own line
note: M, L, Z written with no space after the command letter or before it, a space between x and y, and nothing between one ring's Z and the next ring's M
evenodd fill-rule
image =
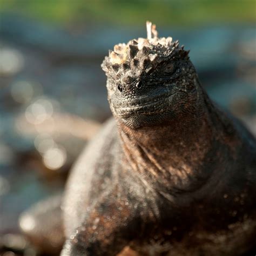
M127 44L114 45L113 51L109 51L109 56L105 57L102 68L108 75L120 79L123 75L132 77L143 72L147 73L156 67L159 59L166 58L173 51L178 51L180 57L187 57L188 52L184 46L179 48L179 42L172 41L172 37L158 38L156 25L151 22L146 23L147 38L138 38L129 41Z

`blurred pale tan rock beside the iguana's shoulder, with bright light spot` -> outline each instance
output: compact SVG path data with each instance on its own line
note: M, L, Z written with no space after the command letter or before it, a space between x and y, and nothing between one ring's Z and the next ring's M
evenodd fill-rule
M27 112L21 114L16 119L17 132L33 140L42 163L53 171L69 170L87 140L101 127L96 121L68 113L51 113L46 118L38 118L37 113L29 118Z

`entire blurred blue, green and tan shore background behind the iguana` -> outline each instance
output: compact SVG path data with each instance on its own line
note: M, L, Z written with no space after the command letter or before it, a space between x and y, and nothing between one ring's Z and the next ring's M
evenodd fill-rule
M0 255L58 255L70 166L111 116L100 64L147 20L256 134L256 1L0 0Z

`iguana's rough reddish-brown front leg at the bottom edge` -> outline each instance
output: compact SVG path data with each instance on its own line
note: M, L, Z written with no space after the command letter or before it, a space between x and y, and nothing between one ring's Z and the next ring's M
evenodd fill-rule
M139 233L139 218L128 201L100 203L66 241L62 256L116 255Z

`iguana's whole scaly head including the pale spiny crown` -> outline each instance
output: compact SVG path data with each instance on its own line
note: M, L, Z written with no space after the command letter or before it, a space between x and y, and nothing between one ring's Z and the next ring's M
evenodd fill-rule
M198 95L188 51L171 37L158 38L149 22L147 34L147 39L115 45L102 64L113 115L132 129L161 125L190 112Z

